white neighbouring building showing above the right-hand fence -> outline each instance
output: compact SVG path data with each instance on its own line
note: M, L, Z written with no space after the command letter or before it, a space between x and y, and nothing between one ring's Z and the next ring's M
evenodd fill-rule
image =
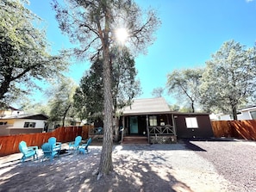
M233 115L216 114L215 121L232 121ZM256 106L240 108L237 112L237 120L256 120Z

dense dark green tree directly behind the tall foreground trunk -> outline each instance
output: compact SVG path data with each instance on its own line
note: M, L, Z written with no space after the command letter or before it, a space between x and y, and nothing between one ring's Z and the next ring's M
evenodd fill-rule
M137 71L134 66L134 58L128 50L116 50L111 54L112 66L112 97L114 110L128 105L134 96L140 94L140 82L135 80ZM115 56L114 56L115 55ZM79 116L88 121L103 120L103 60L97 59L90 71L87 71L80 81L74 95L76 108L79 108ZM117 115L117 114L116 114Z

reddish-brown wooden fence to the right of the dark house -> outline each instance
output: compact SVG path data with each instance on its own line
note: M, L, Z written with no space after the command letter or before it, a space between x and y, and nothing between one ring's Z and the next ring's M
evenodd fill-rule
M256 120L212 121L211 126L216 138L256 140Z

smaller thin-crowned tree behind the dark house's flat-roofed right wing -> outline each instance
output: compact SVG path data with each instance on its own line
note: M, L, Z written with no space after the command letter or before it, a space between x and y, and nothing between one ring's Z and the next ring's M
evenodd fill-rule
M195 104L199 103L202 74L203 69L176 70L168 74L169 94L176 96L180 102L190 103L190 112L195 112Z

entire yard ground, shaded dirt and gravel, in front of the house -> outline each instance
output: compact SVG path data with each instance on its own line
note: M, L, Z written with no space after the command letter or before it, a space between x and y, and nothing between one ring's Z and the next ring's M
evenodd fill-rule
M67 149L67 145L63 145ZM256 143L185 141L113 147L114 171L97 181L101 146L53 162L0 158L0 191L256 191Z

